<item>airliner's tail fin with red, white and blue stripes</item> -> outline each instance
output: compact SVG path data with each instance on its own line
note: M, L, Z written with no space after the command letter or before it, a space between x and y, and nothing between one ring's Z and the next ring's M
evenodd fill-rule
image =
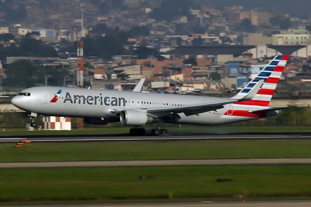
M256 105L267 107L270 104L271 98L276 90L276 85L282 75L288 55L277 55L259 74L245 86L236 96L232 99L240 100L259 82L263 80L263 84L255 97L251 100L241 101L234 104L240 105Z

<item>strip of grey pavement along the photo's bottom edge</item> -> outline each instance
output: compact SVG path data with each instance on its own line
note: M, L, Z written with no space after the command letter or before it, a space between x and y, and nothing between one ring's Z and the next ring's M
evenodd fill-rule
M160 203L160 204L90 204L90 205L36 205L36 207L310 207L311 201L276 202L202 202L202 203ZM29 206L10 206L29 207Z

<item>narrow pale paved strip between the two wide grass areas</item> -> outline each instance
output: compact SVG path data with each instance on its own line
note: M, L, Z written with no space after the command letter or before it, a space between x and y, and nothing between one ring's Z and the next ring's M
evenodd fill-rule
M68 168L68 167L147 167L147 166L210 166L210 165L289 165L311 164L311 158L275 159L190 159L190 160L126 160L76 162L1 162L0 169Z

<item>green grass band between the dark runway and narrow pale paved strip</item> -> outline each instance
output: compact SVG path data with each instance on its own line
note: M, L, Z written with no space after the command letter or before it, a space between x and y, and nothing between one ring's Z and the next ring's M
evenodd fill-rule
M311 140L0 145L0 162L311 157Z

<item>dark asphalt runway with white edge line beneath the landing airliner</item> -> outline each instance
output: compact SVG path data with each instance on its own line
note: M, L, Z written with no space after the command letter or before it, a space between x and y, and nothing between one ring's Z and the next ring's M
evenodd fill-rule
M216 140L289 140L311 139L311 133L232 133L230 135L166 135L166 136L128 136L128 135L64 135L64 136L6 136L0 143L15 143L27 139L34 143L62 142L142 142L142 141L216 141Z

